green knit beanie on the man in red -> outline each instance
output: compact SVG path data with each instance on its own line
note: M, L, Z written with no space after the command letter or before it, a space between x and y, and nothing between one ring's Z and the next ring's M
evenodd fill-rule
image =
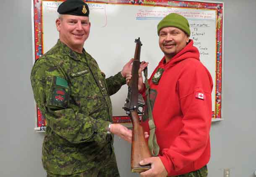
M177 13L170 13L167 16L165 16L165 18L163 18L157 25L157 34L159 36L159 31L162 28L165 27L176 27L178 29L181 29L182 31L184 31L186 34L188 34L188 36L190 36L190 29L189 29L189 23L188 20L177 14Z

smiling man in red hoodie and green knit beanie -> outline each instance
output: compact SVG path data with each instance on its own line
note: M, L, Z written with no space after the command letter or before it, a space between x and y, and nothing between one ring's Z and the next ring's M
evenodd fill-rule
M159 22L157 33L164 57L148 83L159 154L140 162L152 165L152 169L142 172L141 176L207 177L212 77L200 62L193 40L189 39L189 23L185 17L170 13ZM130 78L131 75L126 81ZM142 77L139 90L146 99ZM148 114L144 114L141 125L145 132L150 132ZM153 151L157 154L156 149Z

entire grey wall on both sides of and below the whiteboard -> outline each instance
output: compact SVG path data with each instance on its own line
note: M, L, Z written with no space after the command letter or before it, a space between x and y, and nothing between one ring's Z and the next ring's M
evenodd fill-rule
M209 177L253 177L256 170L256 1L225 3L223 117L211 130ZM0 176L45 177L41 163L42 133L35 133L31 2L1 0L0 5ZM124 151L124 149L127 149ZM121 177L129 172L130 146L115 138Z

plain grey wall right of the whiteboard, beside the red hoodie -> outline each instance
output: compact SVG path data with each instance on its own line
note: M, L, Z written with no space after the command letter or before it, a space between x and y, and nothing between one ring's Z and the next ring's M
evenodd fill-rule
M256 0L223 0L223 117L211 130L209 177L254 177L256 170Z

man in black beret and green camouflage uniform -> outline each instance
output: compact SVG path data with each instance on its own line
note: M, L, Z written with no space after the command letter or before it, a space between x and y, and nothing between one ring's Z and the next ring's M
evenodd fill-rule
M83 0L66 0L56 20L60 39L31 71L34 99L47 120L42 162L47 177L119 177L113 134L131 142L131 130L111 124L110 95L131 71L105 79L83 48L89 36L89 8Z

